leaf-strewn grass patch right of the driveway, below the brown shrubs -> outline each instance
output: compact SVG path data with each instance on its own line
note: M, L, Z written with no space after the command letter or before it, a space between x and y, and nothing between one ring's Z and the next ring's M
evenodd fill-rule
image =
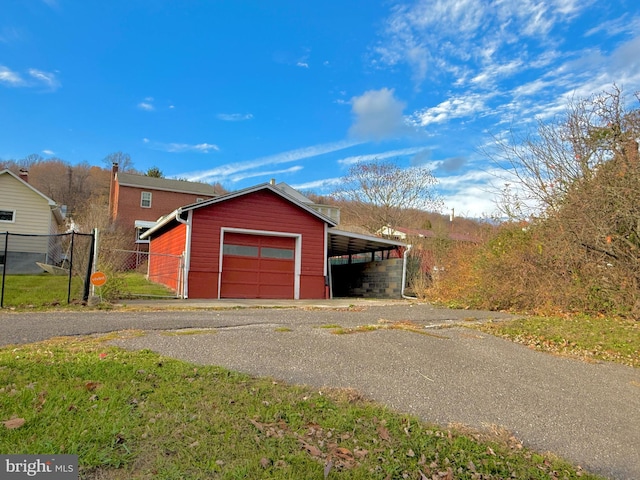
M529 317L474 326L532 348L640 367L640 322L612 317Z

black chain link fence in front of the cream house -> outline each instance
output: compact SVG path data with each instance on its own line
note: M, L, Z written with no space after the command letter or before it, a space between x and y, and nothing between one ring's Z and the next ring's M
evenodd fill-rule
M0 308L86 302L94 233L0 233Z

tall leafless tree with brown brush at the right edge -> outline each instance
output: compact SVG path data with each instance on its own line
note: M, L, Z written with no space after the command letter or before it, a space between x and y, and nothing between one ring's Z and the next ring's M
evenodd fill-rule
M522 261L564 285L567 307L640 316L639 136L640 108L614 86L572 102L536 137L500 145L513 181L503 212L535 213L538 253Z

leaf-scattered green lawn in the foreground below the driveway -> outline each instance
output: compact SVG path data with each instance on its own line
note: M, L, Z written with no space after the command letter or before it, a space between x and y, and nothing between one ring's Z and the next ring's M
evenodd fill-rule
M134 334L134 333L128 333ZM77 454L95 479L594 479L508 434L102 338L0 349L0 451ZM4 423L4 425L3 425Z

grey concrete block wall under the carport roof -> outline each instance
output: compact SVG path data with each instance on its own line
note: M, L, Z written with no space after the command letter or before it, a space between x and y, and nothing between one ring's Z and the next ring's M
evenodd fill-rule
M401 258L333 265L331 274L334 297L402 297Z

